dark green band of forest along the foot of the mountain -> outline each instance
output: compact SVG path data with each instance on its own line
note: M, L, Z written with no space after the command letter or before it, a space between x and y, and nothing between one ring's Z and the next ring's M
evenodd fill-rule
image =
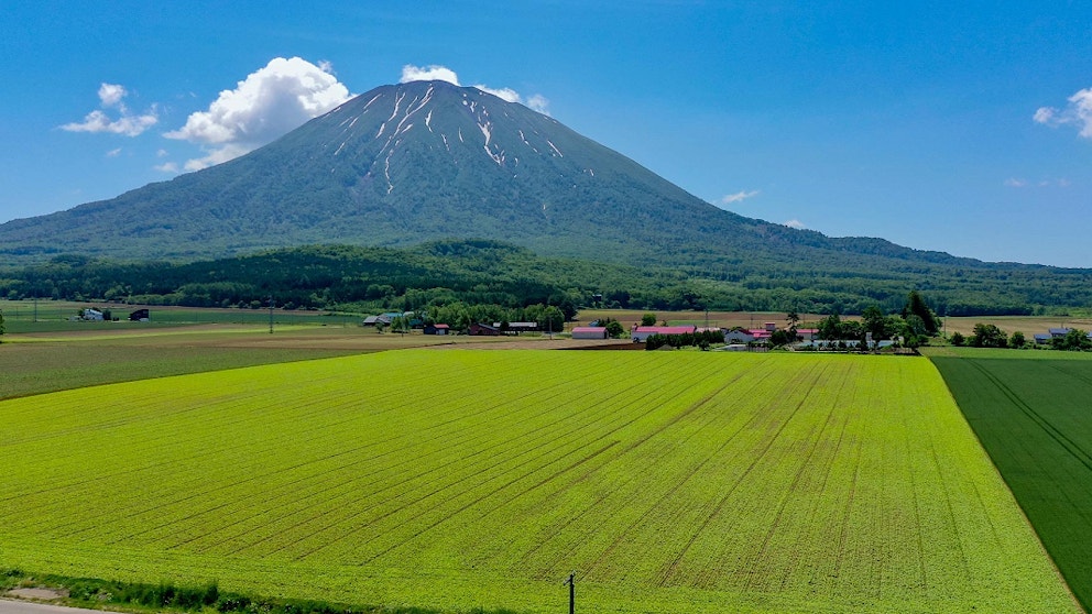
M262 308L272 298L284 309L406 311L461 303L509 314L553 305L566 318L581 306L849 315L877 306L893 313L908 288L926 293L941 316L1033 315L1092 305L1092 279L1084 271L926 262L913 271L854 274L820 265L756 256L635 267L543 257L488 240L411 249L308 246L189 263L59 255L0 270L0 297L238 308Z

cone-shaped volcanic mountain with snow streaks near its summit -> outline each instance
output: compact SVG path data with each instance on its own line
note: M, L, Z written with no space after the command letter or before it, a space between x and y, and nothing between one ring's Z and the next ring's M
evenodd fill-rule
M382 86L230 162L0 226L8 264L57 254L209 260L313 244L504 241L666 267L745 305L917 287L974 309L1086 305L1092 271L829 238L721 210L547 116L444 81ZM877 288L885 288L877 292ZM782 298L778 298L780 296Z

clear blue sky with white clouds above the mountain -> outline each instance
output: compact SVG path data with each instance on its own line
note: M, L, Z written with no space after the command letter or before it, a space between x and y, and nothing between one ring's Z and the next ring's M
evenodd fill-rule
M1092 267L1090 3L266 4L0 3L0 222L443 66L744 216Z

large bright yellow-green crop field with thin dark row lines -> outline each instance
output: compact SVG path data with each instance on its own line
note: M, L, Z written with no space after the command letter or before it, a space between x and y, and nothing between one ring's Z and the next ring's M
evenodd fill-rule
M0 564L451 611L1077 611L925 359L406 350L0 402Z

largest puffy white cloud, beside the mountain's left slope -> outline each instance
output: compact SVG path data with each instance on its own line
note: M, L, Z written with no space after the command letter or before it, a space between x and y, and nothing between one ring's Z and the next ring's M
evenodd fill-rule
M185 164L198 171L255 150L349 97L327 69L299 57L275 57L164 136L203 145L207 155Z

